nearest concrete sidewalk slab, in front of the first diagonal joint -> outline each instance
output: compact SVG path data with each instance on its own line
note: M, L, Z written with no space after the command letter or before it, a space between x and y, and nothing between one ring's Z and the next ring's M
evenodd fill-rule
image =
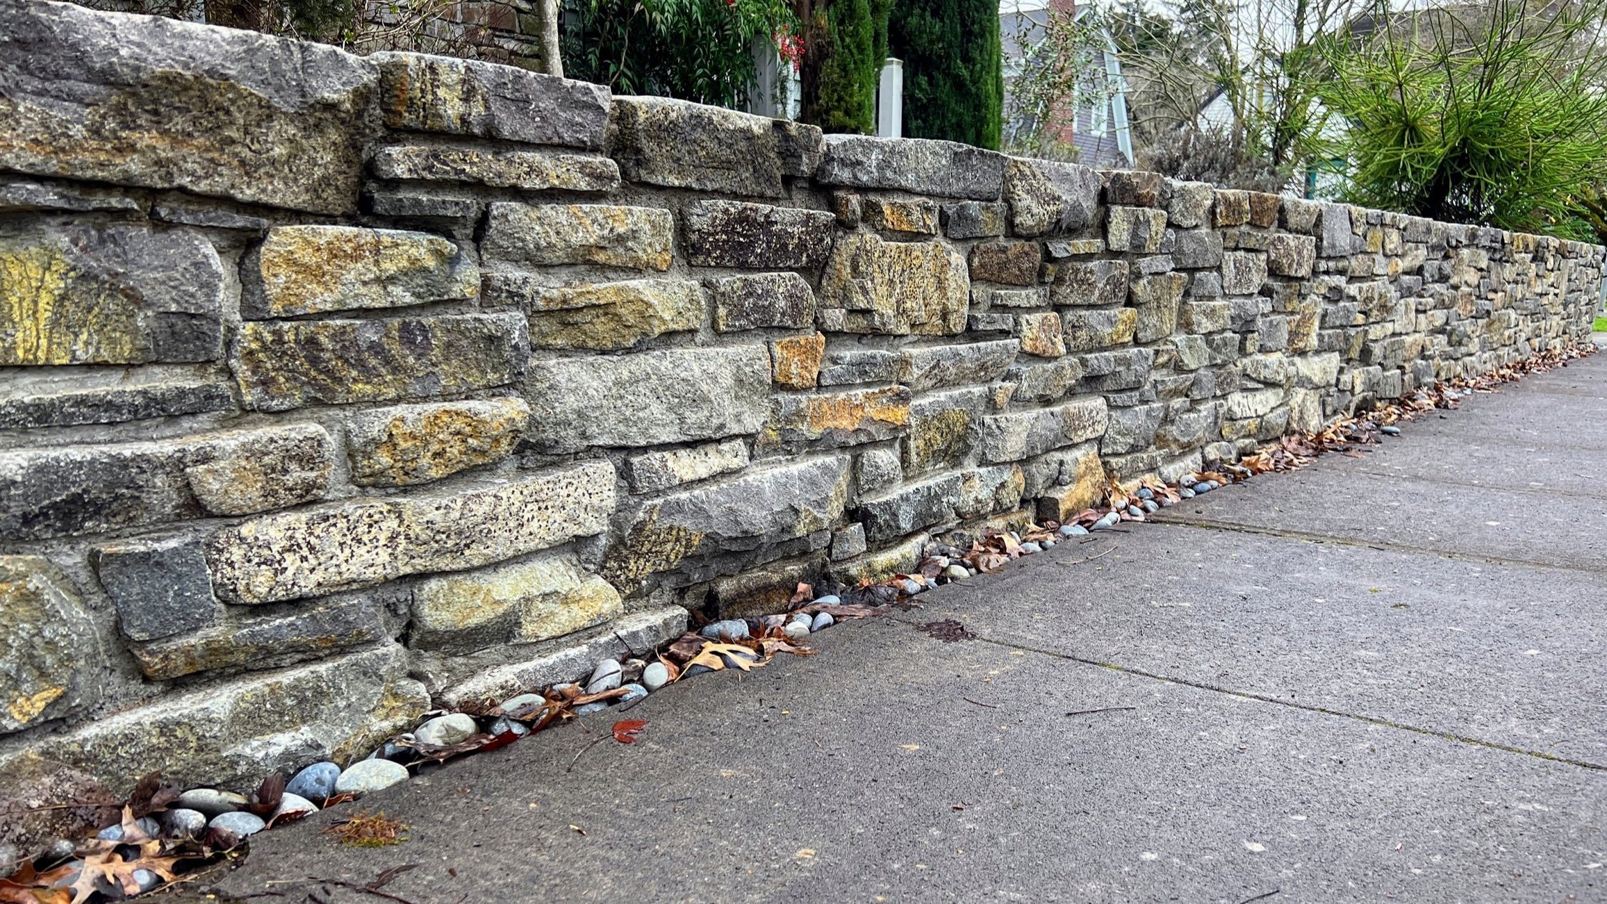
M922 613L910 613L926 618ZM1599 777L893 619L371 795L397 848L252 838L227 896L411 901L1591 899ZM1067 713L1104 706L1133 709ZM590 748L590 750L588 750ZM276 885L268 885L270 881ZM284 885L284 883L289 885ZM325 886L320 899L363 901Z

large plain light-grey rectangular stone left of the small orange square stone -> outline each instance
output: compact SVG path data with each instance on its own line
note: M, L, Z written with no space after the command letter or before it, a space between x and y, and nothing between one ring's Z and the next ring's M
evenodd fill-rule
M770 415L762 344L532 362L529 442L543 452L757 433Z

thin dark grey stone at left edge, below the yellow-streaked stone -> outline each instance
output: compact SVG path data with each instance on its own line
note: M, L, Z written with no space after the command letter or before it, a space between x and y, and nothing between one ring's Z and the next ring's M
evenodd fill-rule
M21 384L0 392L0 428L124 423L233 409L235 394L220 380L135 378L104 383L76 373L71 383Z

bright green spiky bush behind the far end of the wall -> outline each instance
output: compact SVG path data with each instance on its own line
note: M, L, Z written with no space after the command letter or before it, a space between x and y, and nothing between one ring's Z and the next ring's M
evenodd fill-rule
M1332 156L1350 164L1348 198L1588 238L1580 193L1607 182L1602 0L1469 10L1321 45L1316 92L1345 124Z

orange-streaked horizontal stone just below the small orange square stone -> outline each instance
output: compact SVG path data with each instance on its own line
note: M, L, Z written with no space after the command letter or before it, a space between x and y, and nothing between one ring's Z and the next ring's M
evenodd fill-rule
M832 449L902 436L910 425L910 388L776 396L759 449Z

